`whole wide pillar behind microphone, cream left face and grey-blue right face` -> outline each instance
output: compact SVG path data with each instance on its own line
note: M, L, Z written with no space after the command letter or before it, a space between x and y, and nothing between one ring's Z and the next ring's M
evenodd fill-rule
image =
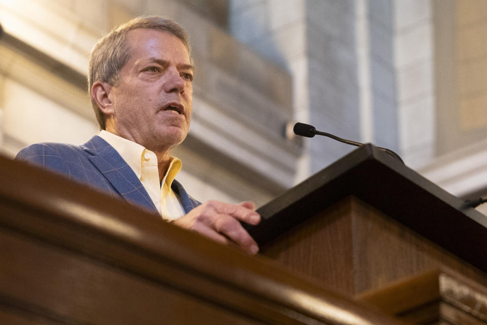
M360 139L354 0L231 0L229 29L291 72L296 121ZM306 142L296 181L353 150L326 138Z

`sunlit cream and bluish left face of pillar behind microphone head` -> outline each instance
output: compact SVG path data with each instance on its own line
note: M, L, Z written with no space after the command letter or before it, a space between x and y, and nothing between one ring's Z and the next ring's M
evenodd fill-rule
M229 8L231 35L291 73L294 121L308 122L306 2L230 0ZM309 176L308 152L306 150L298 161L296 182Z

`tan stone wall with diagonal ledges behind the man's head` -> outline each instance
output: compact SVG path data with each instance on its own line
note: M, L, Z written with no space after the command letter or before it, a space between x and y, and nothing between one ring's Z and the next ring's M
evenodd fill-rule
M84 82L89 50L119 23L160 14L188 31L196 66L191 130L175 150L184 161L178 179L202 201L258 205L292 186L301 149L284 133L291 76L189 3L0 1L2 152L41 141L81 144L96 134Z

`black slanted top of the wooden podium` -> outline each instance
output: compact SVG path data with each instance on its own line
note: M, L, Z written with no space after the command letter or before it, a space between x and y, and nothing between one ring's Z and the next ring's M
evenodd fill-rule
M261 207L249 228L265 246L319 211L354 196L487 273L487 216L371 144ZM480 257L479 257L480 256Z

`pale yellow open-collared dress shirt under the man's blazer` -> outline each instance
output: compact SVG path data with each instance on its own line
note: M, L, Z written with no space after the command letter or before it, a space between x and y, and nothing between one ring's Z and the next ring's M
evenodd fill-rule
M156 154L138 143L124 139L105 130L99 135L107 141L122 156L128 166L141 181L157 211L164 219L175 220L182 217L184 213L181 201L171 189L172 181L181 170L181 160L171 157L169 168L162 179L162 186L159 183L159 170L157 169Z

